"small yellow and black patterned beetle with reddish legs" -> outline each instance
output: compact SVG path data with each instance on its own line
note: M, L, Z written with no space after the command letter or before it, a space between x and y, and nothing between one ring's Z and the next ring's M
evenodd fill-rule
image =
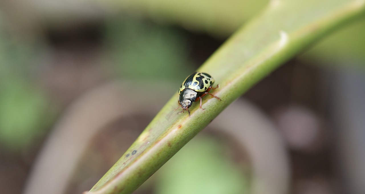
M213 83L214 79L208 73L194 72L189 75L178 90L178 94L180 95L178 103L180 106L175 110L181 107L181 109L183 109L182 112L188 111L190 116L189 107L191 107L193 102L200 100L200 109L204 110L201 108L201 98L205 95L209 94L214 98L221 100L218 96L209 93L211 89L215 90L219 87L219 85L217 85L215 88L212 88Z

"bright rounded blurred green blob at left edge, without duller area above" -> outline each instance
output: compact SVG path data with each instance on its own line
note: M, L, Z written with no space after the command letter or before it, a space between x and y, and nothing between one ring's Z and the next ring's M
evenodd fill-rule
M49 123L46 96L20 77L0 84L0 141L10 150L32 145Z

